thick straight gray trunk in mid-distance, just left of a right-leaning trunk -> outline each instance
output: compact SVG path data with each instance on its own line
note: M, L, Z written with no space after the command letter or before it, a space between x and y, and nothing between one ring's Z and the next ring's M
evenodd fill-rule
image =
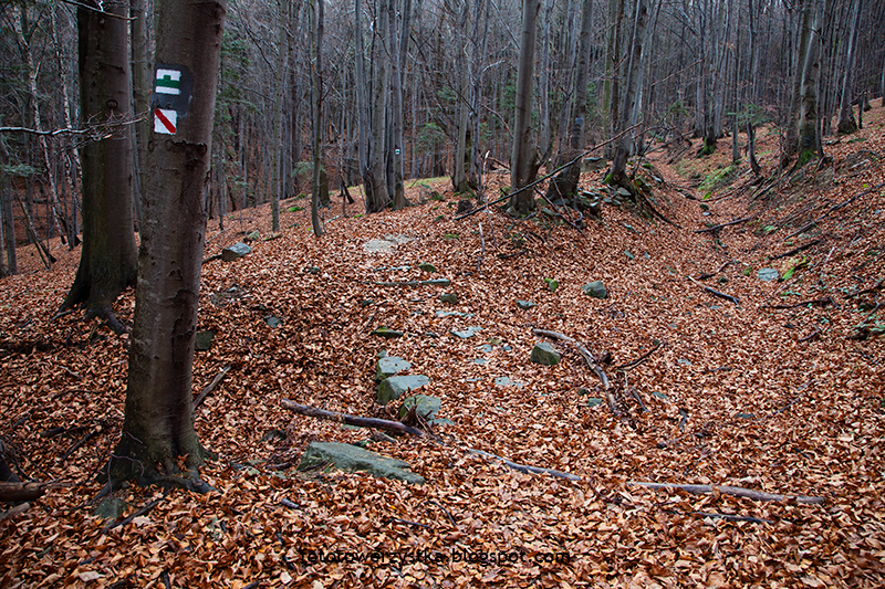
M534 40L540 0L522 0L522 34L517 73L517 104L513 124L513 150L510 157L510 188L516 191L534 180L538 172L538 148L532 141L532 87L534 77ZM510 199L510 207L525 214L534 209L534 193L523 190Z

